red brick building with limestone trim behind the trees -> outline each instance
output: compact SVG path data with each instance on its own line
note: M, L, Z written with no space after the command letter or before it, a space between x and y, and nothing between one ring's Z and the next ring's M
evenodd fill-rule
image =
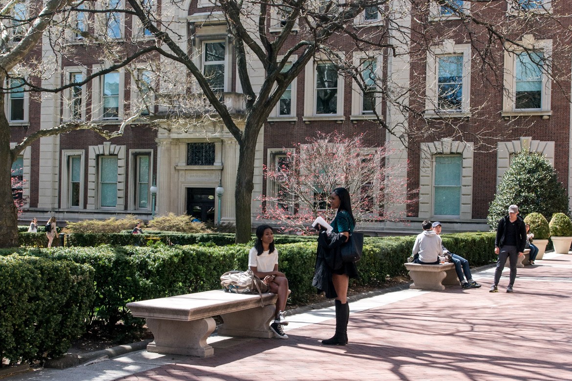
M125 6L122 0L112 2L118 9ZM85 6L97 8L97 3ZM168 18L180 46L194 52L197 67L204 73L220 74L212 86L221 92L240 125L244 99L235 48L220 10L208 0L185 0L177 6L158 0L144 3L164 15L164 20ZM416 231L416 222L426 218L446 223L448 231L488 230L488 203L509 166L510 155L522 149L545 154L557 169L559 181L570 189L572 69L570 43L566 42L570 21L557 18L566 14L569 6L569 0L455 0L451 6L430 3L421 7L396 0L380 6L382 11L368 7L354 19L356 30L367 33L387 27L383 42L391 42L396 50L358 50L355 42L343 35L335 37L335 47L356 66L367 63L391 89L384 89L375 102L367 102L355 81L341 73L336 75L335 67L316 55L292 82L260 133L253 199L275 191L277 186L263 177L263 165L276 166L285 154L284 147L304 143L317 131L364 133L368 145L396 149L387 157L387 166L408 165L407 172L401 174L407 178L407 187L400 191L419 190L419 200L401 208L413 223L363 224L364 230L380 234ZM279 31L280 18L270 13L268 30ZM493 41L486 45L483 36L490 30L471 24L472 15L495 21L499 30L509 30L513 44ZM130 14L108 17L103 26L97 17L86 13L85 19L76 20L76 26L86 33L104 33L116 43L125 41L125 49L130 49L130 41L152 42L149 31ZM386 17L392 18L391 23ZM527 17L526 22L522 17ZM86 44L81 33L68 38L75 59L58 61L59 74L43 79L42 86L76 82L105 67L98 59L98 47ZM299 38L293 33L287 46ZM57 56L46 39L44 42L38 54ZM490 61L482 58L483 52L490 55ZM180 82L186 81L180 66L164 57L157 56L156 60L162 67L171 67L172 76ZM488 65L490 62L495 65ZM14 142L31 131L74 119L117 129L136 101L145 97L141 83L149 86L152 73L149 61L141 61L136 70L114 70L86 85L45 95L41 102L29 93L6 94L7 110L14 115L10 117ZM337 81L324 81L328 75ZM264 70L255 58L249 65L249 76L260 88ZM336 94L335 102L320 98L325 87ZM162 118L163 111L161 102L156 102L149 115L143 115L154 115L150 119L160 121L159 128L132 123L122 137L110 141L96 133L75 131L41 138L27 148L15 163L22 168L17 175L25 179L23 195L28 199L21 219L37 216L42 220L55 215L58 220L78 220L127 213L150 219L150 189L156 179L157 213L187 212L215 221L220 213L222 223L232 224L239 152L236 140L216 119L177 129L175 122ZM380 127L374 114L380 115L392 134ZM407 146L395 138L400 133L408 134ZM225 190L220 210L215 195L219 185ZM255 200L253 220L259 207Z

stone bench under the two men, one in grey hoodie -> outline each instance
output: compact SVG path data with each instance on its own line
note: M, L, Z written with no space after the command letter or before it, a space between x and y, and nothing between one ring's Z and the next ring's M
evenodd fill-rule
M419 264L404 263L413 283L409 288L416 290L444 290L445 286L459 285L454 263Z

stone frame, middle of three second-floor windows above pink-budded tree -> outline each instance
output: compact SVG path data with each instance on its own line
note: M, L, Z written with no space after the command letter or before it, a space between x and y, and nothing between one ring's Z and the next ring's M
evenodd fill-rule
M338 55L339 59L343 59L343 54L334 52ZM316 89L316 70L317 66L323 63L332 63L331 59L327 59L323 55L311 59L305 66L305 79L304 79L304 122L311 121L341 121L345 120L344 116L344 82L345 77L343 73L338 71L337 75L337 104L335 114L317 114L317 89Z

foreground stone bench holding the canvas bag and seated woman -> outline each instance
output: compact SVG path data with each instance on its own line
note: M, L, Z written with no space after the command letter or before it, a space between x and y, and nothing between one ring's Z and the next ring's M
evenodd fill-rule
M215 351L206 339L215 331L213 316L224 323L219 334L273 338L270 322L274 318L276 294L232 294L224 290L196 292L127 303L133 316L145 318L154 341L149 352L206 357ZM264 307L262 306L264 304Z

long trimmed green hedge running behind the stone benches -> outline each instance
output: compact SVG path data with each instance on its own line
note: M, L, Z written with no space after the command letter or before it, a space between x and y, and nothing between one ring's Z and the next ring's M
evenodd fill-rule
M141 234L124 236L144 239ZM201 242L192 246L18 248L0 250L0 255L39 256L93 267L95 299L90 305L89 316L104 321L113 329L120 320L132 326L143 323L126 310L126 303L217 289L220 288L220 275L225 271L247 268L252 243L218 246L208 238L225 242L228 235L204 234L196 238ZM290 302L305 302L316 292L312 287L316 239L280 238L303 241L277 243L276 247L280 254L280 270L288 275L292 290ZM496 261L493 232L444 234L442 239L448 250L464 256L472 266ZM366 237L362 260L358 263L360 278L352 282L376 285L388 276L406 275L403 263L411 255L414 240L415 236Z

